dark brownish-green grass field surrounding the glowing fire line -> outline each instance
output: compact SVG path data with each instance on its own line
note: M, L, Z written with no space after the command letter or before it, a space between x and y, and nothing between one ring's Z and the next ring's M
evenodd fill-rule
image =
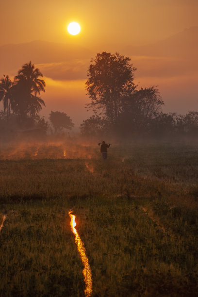
M1 148L0 296L84 295L70 209L92 296L198 296L198 143L63 147Z

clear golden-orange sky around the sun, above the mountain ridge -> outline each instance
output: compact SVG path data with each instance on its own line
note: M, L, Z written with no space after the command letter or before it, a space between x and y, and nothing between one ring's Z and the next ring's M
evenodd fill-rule
M197 0L9 0L0 1L0 12L0 45L69 39L98 49L145 44L198 25ZM65 31L73 20L82 26L75 40Z

